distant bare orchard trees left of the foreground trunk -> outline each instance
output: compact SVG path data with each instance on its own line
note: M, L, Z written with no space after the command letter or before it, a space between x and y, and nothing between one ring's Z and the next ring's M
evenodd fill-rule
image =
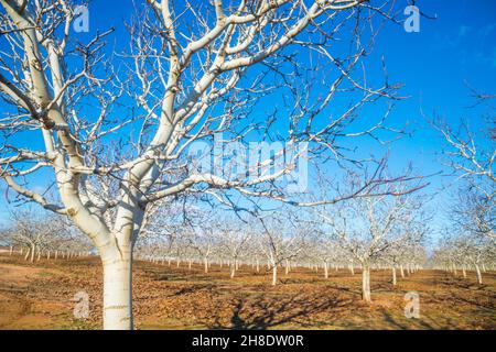
M31 208L11 212L9 224L0 230L0 244L9 249L10 255L20 254L31 263L42 256L47 260L80 256L93 249L62 217L46 217Z

